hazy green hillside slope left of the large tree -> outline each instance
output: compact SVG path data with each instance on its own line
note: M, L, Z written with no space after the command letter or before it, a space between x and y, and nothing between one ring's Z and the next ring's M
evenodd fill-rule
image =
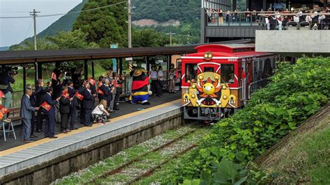
M87 1L88 0L83 0L77 6L72 8L72 10L70 10L69 13L72 14L63 15L56 22L48 26L47 29L38 33L37 38L45 38L45 36L47 35L54 36L58 31L71 31L73 23L76 21L77 17L79 16L79 13L73 13L73 12L80 11L84 7ZM26 40L31 42L33 41L33 37L26 38ZM24 40L22 43L24 43L26 40Z

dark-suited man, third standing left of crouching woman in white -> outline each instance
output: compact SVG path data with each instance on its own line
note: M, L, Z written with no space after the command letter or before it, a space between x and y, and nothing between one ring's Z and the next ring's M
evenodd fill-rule
M62 87L62 95L60 98L60 113L61 113L61 131L68 134L71 130L68 129L69 115L70 115L70 102L73 98L69 97L68 87Z

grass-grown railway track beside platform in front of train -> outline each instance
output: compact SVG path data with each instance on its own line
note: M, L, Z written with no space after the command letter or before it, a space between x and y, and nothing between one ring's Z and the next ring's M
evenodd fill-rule
M100 184L100 181L103 182L103 180L106 182L109 177L113 177L115 175L122 175L127 177L127 180L124 182L120 182L123 184L133 184L134 182L138 182L143 177L148 177L152 175L152 172L154 172L157 168L162 167L164 164L168 163L172 159L177 158L178 156L181 156L182 154L188 152L189 150L194 149L194 147L197 147L195 144L191 145L184 145L183 150L180 147L180 144L184 143L184 138L187 136L190 136L191 134L194 134L196 131L198 131L199 128L191 129L190 131L187 131L186 133L174 138L173 140L169 140L167 143L164 143L163 145L160 145L159 147L156 147L153 150L150 150L146 153L143 153L139 156L136 156L134 159L127 161L126 163L123 163L123 165L118 166L117 168L114 168L112 170L107 170L106 172L103 172L101 175L98 175L97 177L93 177L85 184ZM180 150L175 150L173 147L179 147ZM173 151L172 151L173 150ZM168 157L166 157L165 160L159 161L159 163L155 165L150 165L148 163L148 156L152 154L160 154L161 152L168 152ZM173 154L172 154L173 153ZM146 162L143 162L146 161ZM141 172L127 172L129 169L136 169L134 164L136 163L145 163L146 166L148 166L147 170L141 170ZM149 167L150 165L150 167Z

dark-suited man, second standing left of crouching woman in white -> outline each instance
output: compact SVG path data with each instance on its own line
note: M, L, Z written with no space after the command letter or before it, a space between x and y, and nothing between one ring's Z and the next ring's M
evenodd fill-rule
M77 128L74 127L74 124L76 124L77 121L77 110L79 106L78 98L74 96L78 90L73 88L74 84L73 81L68 81L68 92L70 97L72 98L71 104L70 104L70 130L76 130Z

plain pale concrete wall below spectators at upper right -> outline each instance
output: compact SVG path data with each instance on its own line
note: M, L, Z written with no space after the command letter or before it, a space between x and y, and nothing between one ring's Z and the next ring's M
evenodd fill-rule
M329 30L256 31L256 51L329 54Z

